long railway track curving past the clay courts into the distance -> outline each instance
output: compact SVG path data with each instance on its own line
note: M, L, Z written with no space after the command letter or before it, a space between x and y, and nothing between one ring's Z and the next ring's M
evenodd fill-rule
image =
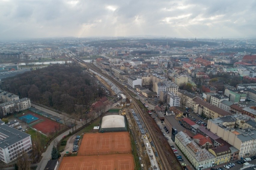
M86 65L87 65L87 68L90 68L90 69L94 70L95 72L98 72L98 73L104 75L106 78L108 78L110 81L112 81L113 83L116 84L116 81L114 81L114 79L113 79L111 76L109 76L108 74L103 73L103 72L102 72L98 67L96 67L94 64L92 64L92 63L88 64L88 63L85 63L83 60L81 60L81 59L79 59L79 58L77 58L77 57L75 57L75 58L76 58L78 61L80 61L81 63L86 64ZM134 98L132 95L130 95L130 92L127 90L127 88L124 88L124 86L120 85L119 83L117 83L116 86L117 86L121 91L123 91L123 93L124 93L128 98L133 99L133 101L134 101L135 98ZM143 120L143 122L144 122L144 125L145 125L146 128L148 129L148 133L150 134L151 139L152 139L152 141L153 141L154 144L155 144L154 146L155 146L155 148L156 148L156 150L157 150L157 154L158 154L158 156L159 156L159 160L161 161L161 165L163 166L163 169L164 169L164 170L171 170L171 169L173 169L173 167L171 166L171 164L170 164L169 161L168 161L168 159L170 159L170 157L168 157L168 156L165 154L165 152L164 152L165 147L162 148L161 145L159 145L159 144L157 143L157 141L158 141L157 136L159 136L159 133L157 133L157 132L152 128L151 125L148 125L148 124L146 123L147 120L146 120L146 118L145 118L145 116L144 116L144 113L142 112L141 107L140 107L136 102L133 102L133 105L134 105L135 110L137 111L137 113L140 114L140 117L142 118L142 120Z

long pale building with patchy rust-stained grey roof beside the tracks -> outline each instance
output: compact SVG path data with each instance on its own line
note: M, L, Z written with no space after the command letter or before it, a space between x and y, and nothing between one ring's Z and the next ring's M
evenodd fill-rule
M186 155L196 170L215 165L216 158L205 148L200 148L186 133L180 131L175 135L175 144Z

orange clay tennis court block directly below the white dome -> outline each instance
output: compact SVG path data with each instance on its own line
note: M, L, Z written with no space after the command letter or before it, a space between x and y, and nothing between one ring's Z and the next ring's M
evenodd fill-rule
M85 133L78 156L132 153L129 132Z

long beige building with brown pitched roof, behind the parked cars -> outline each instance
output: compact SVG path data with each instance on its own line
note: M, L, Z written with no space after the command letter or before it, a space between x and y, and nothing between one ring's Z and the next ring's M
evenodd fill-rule
M194 113L204 115L209 119L231 115L231 113L228 113L225 110L222 110L221 108L214 106L200 98L194 98L192 103Z

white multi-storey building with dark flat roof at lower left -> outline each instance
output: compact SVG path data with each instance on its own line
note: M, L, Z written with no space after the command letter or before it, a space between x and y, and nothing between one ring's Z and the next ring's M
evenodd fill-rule
M30 135L0 121L0 160L8 164L16 160L17 153L23 150L32 150Z

